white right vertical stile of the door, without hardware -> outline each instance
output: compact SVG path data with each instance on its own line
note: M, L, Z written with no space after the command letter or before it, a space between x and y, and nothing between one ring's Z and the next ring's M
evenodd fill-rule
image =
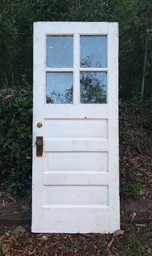
M108 135L109 135L109 228L118 229L120 223L119 206L119 27L109 23L108 35ZM115 49L115 50L113 50ZM115 188L113 188L115 186Z

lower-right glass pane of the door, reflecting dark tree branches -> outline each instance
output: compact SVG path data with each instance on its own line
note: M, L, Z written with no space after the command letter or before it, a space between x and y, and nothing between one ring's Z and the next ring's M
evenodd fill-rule
M81 72L81 103L106 103L106 72Z

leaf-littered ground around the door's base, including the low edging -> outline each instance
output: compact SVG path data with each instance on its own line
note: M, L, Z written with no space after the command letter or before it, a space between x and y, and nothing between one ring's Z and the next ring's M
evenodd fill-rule
M1 195L0 203L0 256L152 255L151 199L122 199L113 235L32 233L30 202Z

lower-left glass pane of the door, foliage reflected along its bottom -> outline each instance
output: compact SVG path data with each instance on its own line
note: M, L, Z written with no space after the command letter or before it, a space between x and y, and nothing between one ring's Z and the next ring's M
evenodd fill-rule
M46 73L46 103L73 103L73 73Z

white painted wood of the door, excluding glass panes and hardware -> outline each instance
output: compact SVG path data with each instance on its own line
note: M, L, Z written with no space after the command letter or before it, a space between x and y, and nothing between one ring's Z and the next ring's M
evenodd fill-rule
M117 23L37 22L33 32L32 231L120 228ZM46 35L73 35L73 68L46 67ZM81 35L108 35L107 68L80 68ZM80 72L107 72L107 104L80 103ZM46 104L46 72L73 72L73 104ZM41 128L37 123L42 123ZM43 136L43 157L35 140Z

